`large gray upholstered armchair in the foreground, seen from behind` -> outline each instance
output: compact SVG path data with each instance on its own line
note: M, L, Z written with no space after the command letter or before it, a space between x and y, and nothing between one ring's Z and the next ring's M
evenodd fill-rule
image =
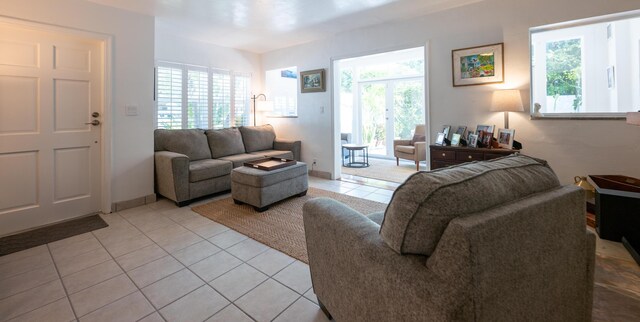
M313 199L303 219L319 304L337 321L590 321L583 194L510 156L418 172L384 214Z

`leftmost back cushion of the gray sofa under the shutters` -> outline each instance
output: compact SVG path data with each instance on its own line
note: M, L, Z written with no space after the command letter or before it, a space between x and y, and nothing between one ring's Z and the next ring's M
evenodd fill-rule
M170 151L186 155L190 161L211 159L204 130L164 130L153 132L155 151Z

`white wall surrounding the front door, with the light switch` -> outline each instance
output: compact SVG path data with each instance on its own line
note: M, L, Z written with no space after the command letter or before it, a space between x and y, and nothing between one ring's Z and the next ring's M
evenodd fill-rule
M113 37L112 202L152 194L153 18L84 0L2 0L0 14ZM138 116L125 116L131 104Z

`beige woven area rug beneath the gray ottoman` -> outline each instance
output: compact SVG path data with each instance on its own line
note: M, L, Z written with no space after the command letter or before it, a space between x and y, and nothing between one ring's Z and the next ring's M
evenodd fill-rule
M371 200L309 188L306 196L286 199L276 203L264 212L257 212L249 205L236 205L230 197L193 207L192 210L293 258L308 263L307 243L302 222L302 206L308 200L317 197L333 198L363 214L384 211L387 207L386 204Z

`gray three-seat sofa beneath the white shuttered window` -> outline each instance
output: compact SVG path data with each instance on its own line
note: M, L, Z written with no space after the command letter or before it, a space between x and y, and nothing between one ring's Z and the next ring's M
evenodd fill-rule
M231 170L264 157L300 160L300 141L276 138L271 125L154 132L156 192L184 206L231 189Z

